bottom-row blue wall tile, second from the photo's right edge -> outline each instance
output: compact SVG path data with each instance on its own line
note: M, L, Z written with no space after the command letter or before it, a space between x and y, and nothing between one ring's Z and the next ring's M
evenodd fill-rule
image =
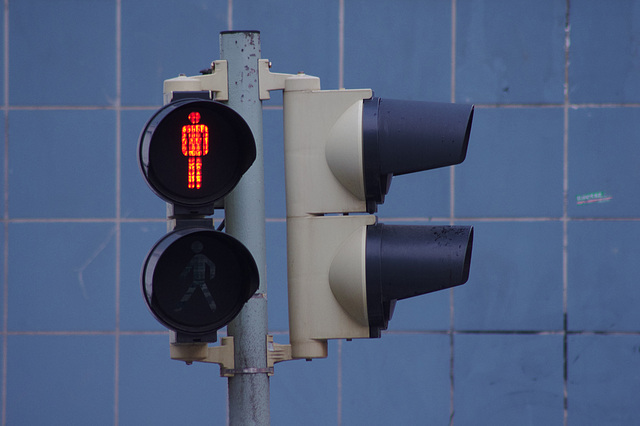
M562 340L559 335L457 335L455 424L562 425Z

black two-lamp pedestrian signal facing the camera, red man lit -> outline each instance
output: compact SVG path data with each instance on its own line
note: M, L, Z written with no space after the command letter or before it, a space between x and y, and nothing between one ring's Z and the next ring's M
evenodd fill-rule
M138 144L144 179L172 205L175 224L144 261L142 292L153 316L175 332L176 343L216 341L217 330L259 284L249 250L206 218L256 158L248 124L208 95L174 93L174 101L149 119Z

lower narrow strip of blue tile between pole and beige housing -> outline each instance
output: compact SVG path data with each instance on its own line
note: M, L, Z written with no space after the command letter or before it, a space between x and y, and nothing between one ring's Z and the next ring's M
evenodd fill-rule
M287 292L287 224L267 222L267 295L269 330L289 330Z

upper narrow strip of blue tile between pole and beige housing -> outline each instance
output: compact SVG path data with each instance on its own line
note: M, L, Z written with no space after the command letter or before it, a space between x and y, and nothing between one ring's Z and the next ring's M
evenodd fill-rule
M284 185L284 139L282 110L263 110L265 214L268 218L287 215Z

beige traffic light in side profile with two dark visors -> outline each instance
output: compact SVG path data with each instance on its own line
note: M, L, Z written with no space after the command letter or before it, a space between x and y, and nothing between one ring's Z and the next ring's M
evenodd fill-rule
M326 357L327 339L380 337L397 300L467 281L473 228L379 224L372 213L393 176L464 161L472 119L472 105L285 80L293 358Z

